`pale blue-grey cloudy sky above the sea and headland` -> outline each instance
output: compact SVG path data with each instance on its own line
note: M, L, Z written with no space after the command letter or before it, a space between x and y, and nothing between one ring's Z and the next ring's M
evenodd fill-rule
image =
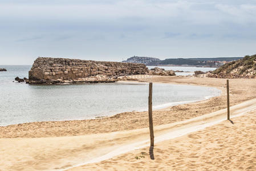
M256 54L256 0L0 0L0 65Z

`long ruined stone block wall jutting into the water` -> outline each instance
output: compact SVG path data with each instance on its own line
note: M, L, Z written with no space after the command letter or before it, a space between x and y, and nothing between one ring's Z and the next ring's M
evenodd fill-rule
M29 71L30 84L116 82L121 76L147 74L144 64L38 58Z

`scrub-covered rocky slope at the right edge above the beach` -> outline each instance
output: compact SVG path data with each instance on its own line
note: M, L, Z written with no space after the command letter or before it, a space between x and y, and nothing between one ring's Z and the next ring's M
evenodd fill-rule
M214 70L208 77L213 78L256 78L256 55L233 61Z

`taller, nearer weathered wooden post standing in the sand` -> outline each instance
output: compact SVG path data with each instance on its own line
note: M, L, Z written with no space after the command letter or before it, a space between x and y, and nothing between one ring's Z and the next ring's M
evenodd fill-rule
M153 118L152 118L152 83L149 83L148 121L149 121L149 132L150 132L150 146L154 146L154 131L153 131Z

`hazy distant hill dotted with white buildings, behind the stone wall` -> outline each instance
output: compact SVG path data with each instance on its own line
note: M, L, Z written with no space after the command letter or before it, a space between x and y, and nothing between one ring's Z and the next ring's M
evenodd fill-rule
M128 58L127 60L124 60L122 62L143 63L145 65L156 65L159 61L160 61L160 59L158 59L158 58L132 56L131 58Z

